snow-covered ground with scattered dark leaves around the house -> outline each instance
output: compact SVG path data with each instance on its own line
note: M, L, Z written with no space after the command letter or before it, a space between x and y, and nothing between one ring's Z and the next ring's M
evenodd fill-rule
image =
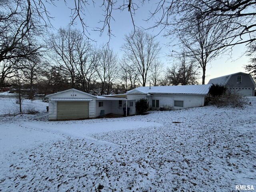
M256 97L144 116L47 121L0 98L0 191L236 191L256 188ZM47 103L23 103L44 112ZM15 111L14 111L15 112Z

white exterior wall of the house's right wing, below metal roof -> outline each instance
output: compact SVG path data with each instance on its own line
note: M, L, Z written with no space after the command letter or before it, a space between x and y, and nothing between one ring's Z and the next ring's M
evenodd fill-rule
M150 100L150 107L152 107L152 100L159 100L159 107L171 107L172 109L204 106L202 95L154 94ZM183 107L174 107L174 100L183 101Z

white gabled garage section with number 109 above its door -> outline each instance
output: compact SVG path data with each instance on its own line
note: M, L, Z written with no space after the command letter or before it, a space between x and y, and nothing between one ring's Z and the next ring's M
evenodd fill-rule
M94 95L69 89L46 97L49 98L49 120L95 118Z

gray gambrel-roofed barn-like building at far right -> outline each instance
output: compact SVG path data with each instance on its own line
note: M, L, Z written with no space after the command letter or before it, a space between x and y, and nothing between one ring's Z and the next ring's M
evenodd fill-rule
M250 74L239 72L211 79L208 84L226 86L229 90L243 96L254 96L256 84Z

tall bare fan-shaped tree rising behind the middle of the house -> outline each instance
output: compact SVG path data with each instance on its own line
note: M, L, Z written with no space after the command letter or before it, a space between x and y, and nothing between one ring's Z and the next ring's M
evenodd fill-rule
M139 81L142 86L146 86L150 67L160 54L159 42L141 29L130 32L124 40L125 43L122 45L124 58L138 70Z

